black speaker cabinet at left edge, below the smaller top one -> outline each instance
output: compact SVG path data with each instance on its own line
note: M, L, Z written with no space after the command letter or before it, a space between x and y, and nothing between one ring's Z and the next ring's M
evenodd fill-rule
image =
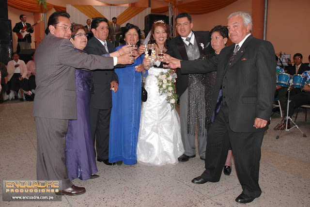
M11 20L0 19L0 62L8 64L13 53Z

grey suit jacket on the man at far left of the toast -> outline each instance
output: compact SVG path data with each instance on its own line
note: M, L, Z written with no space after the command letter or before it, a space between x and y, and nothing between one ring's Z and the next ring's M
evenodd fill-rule
M76 68L113 68L112 57L87 55L72 43L49 33L35 52L33 115L52 119L77 119Z

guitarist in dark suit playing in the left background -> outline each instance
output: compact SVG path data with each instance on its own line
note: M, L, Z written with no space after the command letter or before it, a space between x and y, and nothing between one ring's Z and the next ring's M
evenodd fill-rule
M24 38L19 38L17 39L17 50L16 52L19 53L21 49L31 49L31 35L30 33L32 33L33 30L33 26L31 26L31 24L26 23L27 17L25 15L20 15L19 19L21 20L21 22L16 23L15 27L13 28L13 32L18 33L24 33L24 32L29 32L29 34L27 34ZM25 27L26 26L26 27ZM18 35L17 35L18 36ZM20 46L19 43L20 42L24 42L22 44L25 44L25 46Z

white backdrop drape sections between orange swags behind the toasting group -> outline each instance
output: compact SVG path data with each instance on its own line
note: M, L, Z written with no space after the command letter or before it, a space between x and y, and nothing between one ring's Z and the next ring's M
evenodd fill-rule
M84 15L82 12L80 12L77 8L72 6L71 4L67 4L67 12L70 14L70 20L71 22L86 25L86 20L90 17ZM122 14L128 7L125 6L93 6L99 13L101 13L103 16L105 16L109 21L112 21L112 18L115 16L119 16ZM146 8L138 15L132 17L125 23L121 25L121 27L124 27L128 22L131 24L134 24L138 27L140 27L140 30L143 34L144 30L144 17L151 14L151 8Z

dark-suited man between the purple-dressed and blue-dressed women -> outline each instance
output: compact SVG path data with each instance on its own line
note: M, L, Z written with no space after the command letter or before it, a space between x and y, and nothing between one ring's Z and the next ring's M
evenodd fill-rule
M93 38L84 49L88 54L103 55L114 51L110 41L106 41L109 34L109 25L106 18L96 17L92 21ZM91 133L93 142L96 142L97 161L109 163L109 127L112 108L112 94L118 89L118 77L111 70L93 71L94 92L91 95Z

